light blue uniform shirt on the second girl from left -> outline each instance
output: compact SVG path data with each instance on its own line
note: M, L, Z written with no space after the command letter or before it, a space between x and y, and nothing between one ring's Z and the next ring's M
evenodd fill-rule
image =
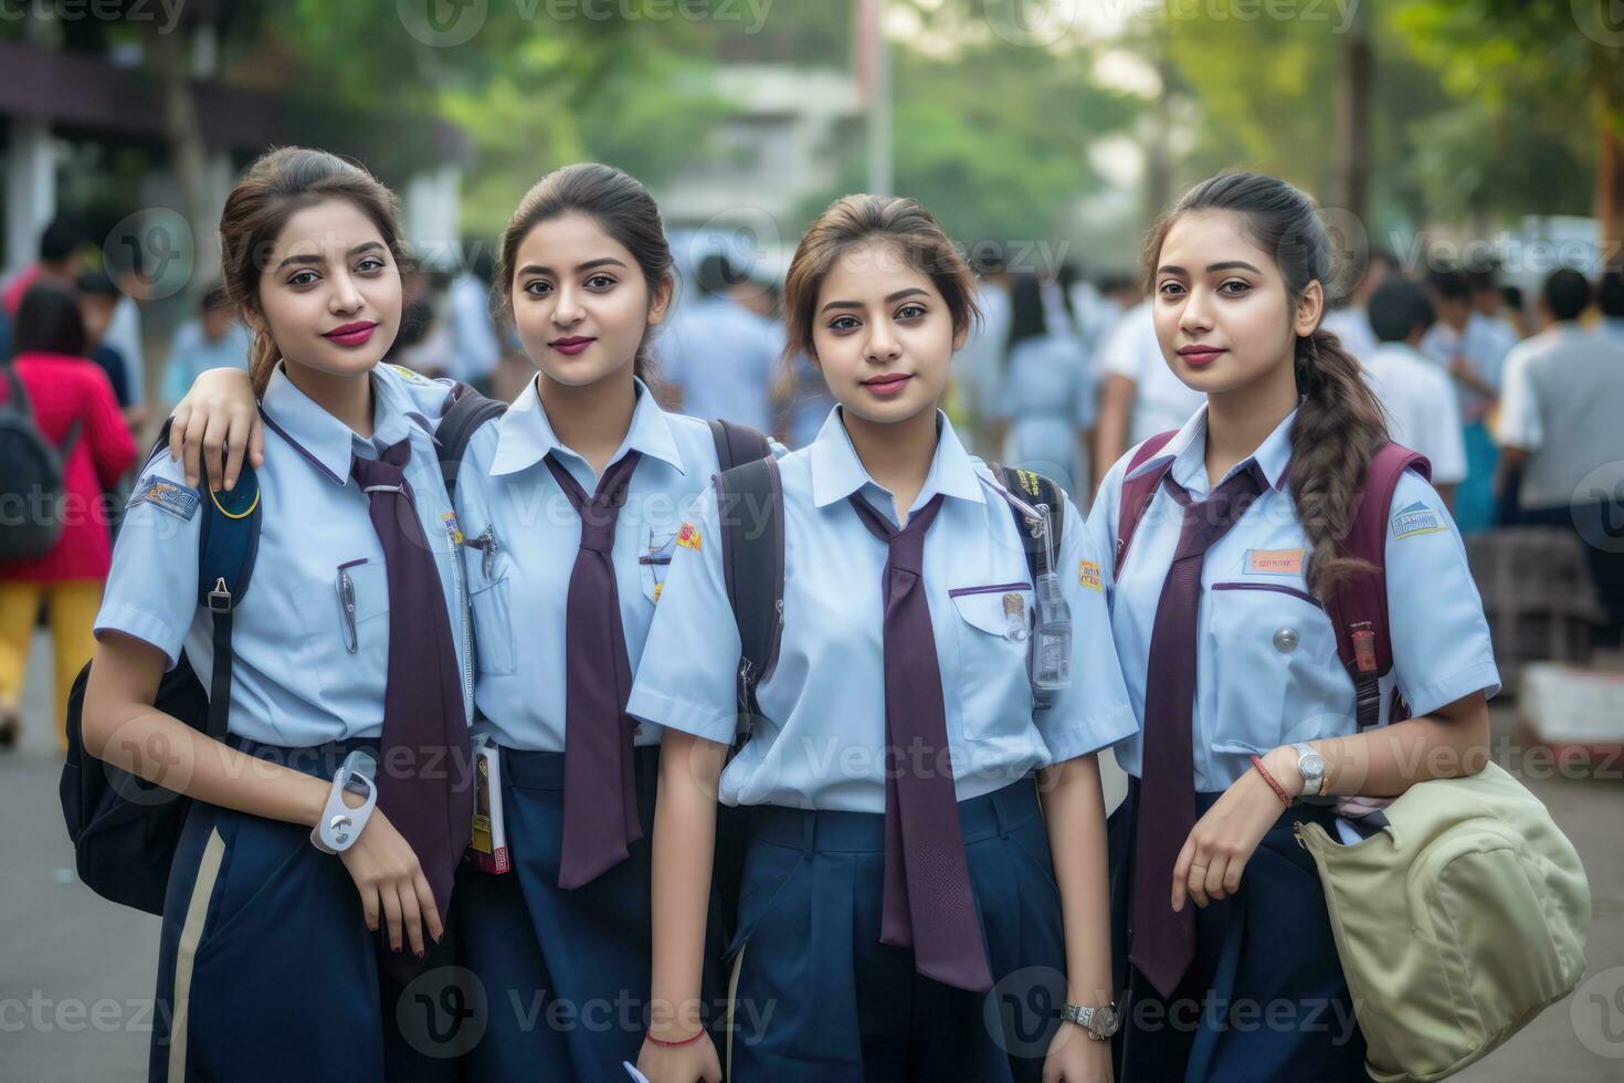
M641 382L632 427L611 464L630 451L641 460L615 521L611 560L635 672L684 515L719 466L710 425L667 414ZM474 434L458 472L456 508L468 537L476 731L510 749L564 752L567 612L581 518L547 469L549 453L591 497L598 477L559 443L531 380L502 419ZM638 726L635 742L658 744L659 727Z

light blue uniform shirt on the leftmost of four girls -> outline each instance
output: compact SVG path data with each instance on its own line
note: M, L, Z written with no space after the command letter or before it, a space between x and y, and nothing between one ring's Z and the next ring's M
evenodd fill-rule
M378 448L406 437L411 437L406 481L434 549L456 640L464 710L471 708L468 617L453 549L456 521L430 435L450 385L378 365L372 370L372 391L374 437L367 440L310 401L281 365L271 373L261 401L268 429L265 466L257 471L260 549L231 638L237 658L231 684L232 734L307 747L383 732L388 580L367 495L349 477L349 463L352 455L377 458ZM182 513L141 498L151 479L185 490L182 463L159 453L146 464L114 546L96 633L117 630L151 643L169 658L171 667L185 648L208 687L213 620L197 604L203 516L197 508L184 515L184 498ZM354 638L339 604L341 572L354 583Z

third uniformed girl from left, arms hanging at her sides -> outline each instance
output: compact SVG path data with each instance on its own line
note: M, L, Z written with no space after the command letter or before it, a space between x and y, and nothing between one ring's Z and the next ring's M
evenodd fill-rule
M809 447L721 474L677 536L628 703L666 727L638 1059L656 1083L1109 1078L1095 752L1134 718L1077 510L1054 495L1034 575L1046 516L939 409L973 292L919 203L833 203L784 310L838 406ZM741 667L729 598L775 578L776 643ZM749 841L713 1042L718 794ZM1054 1018L1067 1003L1078 1025Z

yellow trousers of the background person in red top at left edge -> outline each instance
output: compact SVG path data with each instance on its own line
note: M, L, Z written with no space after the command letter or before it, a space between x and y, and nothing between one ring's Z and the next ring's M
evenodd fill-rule
M0 580L0 744L15 744L23 703L23 675L41 601L50 619L52 671L55 675L57 747L68 749L65 719L68 692L84 662L96 653L96 611L101 580Z

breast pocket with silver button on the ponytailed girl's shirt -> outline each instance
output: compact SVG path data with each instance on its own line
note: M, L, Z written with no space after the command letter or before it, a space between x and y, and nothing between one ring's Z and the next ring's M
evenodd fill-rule
M1283 583L1213 583L1207 601L1215 752L1262 755L1343 731L1353 690L1330 619L1312 594Z

